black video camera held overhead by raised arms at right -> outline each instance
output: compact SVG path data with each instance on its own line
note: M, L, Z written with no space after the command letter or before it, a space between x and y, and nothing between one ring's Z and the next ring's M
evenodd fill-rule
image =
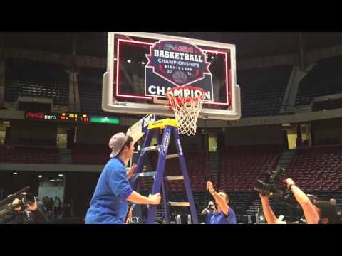
M277 166L275 171L264 171L261 179L258 179L254 190L263 196L269 196L276 201L281 201L294 208L299 208L299 204L294 194L289 192L285 183L285 169L283 166Z

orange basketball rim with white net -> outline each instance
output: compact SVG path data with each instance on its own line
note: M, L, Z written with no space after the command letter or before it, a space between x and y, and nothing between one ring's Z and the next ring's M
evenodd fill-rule
M195 135L205 90L190 86L173 87L167 89L166 97L179 123L178 132L187 136Z

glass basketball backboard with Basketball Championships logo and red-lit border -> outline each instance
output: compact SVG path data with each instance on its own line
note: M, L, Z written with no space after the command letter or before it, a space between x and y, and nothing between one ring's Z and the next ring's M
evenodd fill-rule
M206 91L199 118L239 119L235 60L235 46L228 43L157 33L110 32L102 108L107 112L174 117L165 92L169 87L186 85Z

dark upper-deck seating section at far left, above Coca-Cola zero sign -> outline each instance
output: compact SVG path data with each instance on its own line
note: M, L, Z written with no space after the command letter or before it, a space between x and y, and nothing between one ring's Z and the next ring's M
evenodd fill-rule
M56 105L68 105L69 75L66 69L29 60L6 61L5 102L19 96L48 97Z

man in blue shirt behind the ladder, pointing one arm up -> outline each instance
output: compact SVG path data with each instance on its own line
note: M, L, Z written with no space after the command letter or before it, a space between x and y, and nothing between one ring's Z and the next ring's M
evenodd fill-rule
M219 192L214 191L211 181L207 182L207 190L212 194L217 204L217 213L210 218L209 224L237 224L234 210L228 206L228 194L221 190Z

